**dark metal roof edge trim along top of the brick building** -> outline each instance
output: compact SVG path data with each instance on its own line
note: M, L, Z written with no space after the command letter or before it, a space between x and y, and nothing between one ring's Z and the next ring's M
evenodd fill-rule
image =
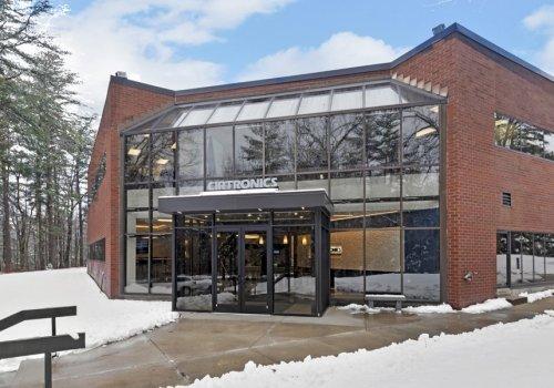
M459 23L450 24L444 30L438 32L437 34L429 38L428 40L425 40L421 44L418 44L417 47L414 47L410 51L403 53L402 55L398 57L397 59L392 60L391 62L386 62L386 63L376 63L376 64L361 65L361 67L355 67L355 68L327 70L327 71L319 71L319 72L314 72L314 73L277 76L277 78L270 78L270 79L264 79L264 80L234 82L234 83L226 83L226 84L219 84L219 85L213 85L213 86L202 86L202 88L183 89L183 90L175 90L175 91L170 90L170 89L165 89L165 88L151 85L151 84L138 82L138 81L127 80L127 79L121 78L121 76L112 75L111 80L115 83L125 84L129 86L134 86L134 88L140 88L140 89L145 89L145 90L150 90L150 91L155 92L155 93L173 95L176 98L176 96L183 96L183 95L222 92L222 91L229 91L229 90L244 89L244 88L267 86L267 85L275 85L275 84L288 83L288 82L312 81L312 80L326 79L326 78L332 78L332 76L356 75L356 74L360 74L360 73L391 70L391 69L398 67L399 64L401 64L402 62L419 54L420 52L429 49L434 43L437 43L443 39L447 39L448 37L450 37L453 33L460 33L461 35L476 42L478 44L484 47L485 49L489 49L490 51L496 53L497 55L503 57L503 58L523 67L524 69L526 69L526 70L529 70L529 71L531 71L531 72L533 72L533 73L535 73L535 74L537 74L537 75L540 75L540 76L542 76L551 82L554 82L554 75L548 74L547 72L538 69L537 67L535 67L535 65L522 60L521 58L507 52L506 50L502 49L501 47L494 44L493 42L484 39L483 37L476 34L475 32L466 29L465 27L463 27Z

